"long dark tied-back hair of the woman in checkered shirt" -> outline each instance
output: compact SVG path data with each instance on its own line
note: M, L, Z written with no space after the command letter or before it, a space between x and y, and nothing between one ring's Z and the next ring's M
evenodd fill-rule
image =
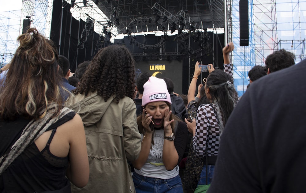
M207 77L206 88L210 89L211 101L217 106L219 119L223 119L223 124L220 125L220 132L222 132L222 126L226 124L239 100L233 85L233 78L222 70L214 70Z

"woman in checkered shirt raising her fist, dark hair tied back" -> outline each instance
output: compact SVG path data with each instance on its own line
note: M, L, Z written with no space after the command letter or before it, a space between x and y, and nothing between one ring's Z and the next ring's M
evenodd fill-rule
M229 52L233 49L233 43L223 48L224 71L214 70L210 64L210 74L203 80L205 94L210 104L202 104L198 107L196 119L193 119L192 123L185 119L188 130L193 134L192 146L196 156L207 155L207 163L203 166L198 186L206 184L206 176L208 184L211 183L223 128L239 100L233 85L229 59ZM208 175L206 175L206 169Z

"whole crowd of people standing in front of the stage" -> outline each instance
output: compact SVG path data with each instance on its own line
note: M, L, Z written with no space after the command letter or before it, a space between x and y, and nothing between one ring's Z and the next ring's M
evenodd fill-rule
M135 77L125 46L71 73L35 28L17 41L0 69L0 192L303 192L306 61L293 53L254 66L239 99L232 42L200 84L195 63L184 95Z

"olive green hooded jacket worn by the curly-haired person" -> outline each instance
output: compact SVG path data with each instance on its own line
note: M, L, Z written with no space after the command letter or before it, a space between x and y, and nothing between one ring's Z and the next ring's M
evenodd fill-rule
M116 104L106 102L97 92L77 94L66 106L82 118L89 159L89 182L72 192L135 192L127 160L136 160L141 149L141 135L136 123L136 106L129 97Z

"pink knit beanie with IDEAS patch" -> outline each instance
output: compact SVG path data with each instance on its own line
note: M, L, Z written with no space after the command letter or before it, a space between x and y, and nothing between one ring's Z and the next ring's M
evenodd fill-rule
M142 105L155 101L166 101L171 104L170 94L166 82L161 78L151 76L144 83L144 95L142 96Z

